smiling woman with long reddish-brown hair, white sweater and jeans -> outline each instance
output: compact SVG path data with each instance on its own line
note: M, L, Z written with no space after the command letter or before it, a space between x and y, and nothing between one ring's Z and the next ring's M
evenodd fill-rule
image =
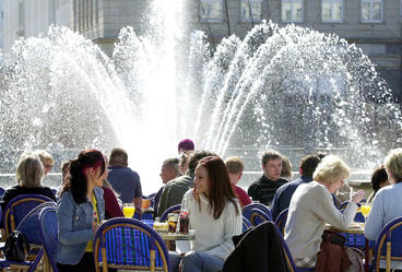
M216 272L235 248L232 237L241 233L241 210L220 157L201 159L194 174L194 188L186 192L181 206L190 213L196 239L192 245L177 243L180 255L170 255L173 271L181 258L182 272Z

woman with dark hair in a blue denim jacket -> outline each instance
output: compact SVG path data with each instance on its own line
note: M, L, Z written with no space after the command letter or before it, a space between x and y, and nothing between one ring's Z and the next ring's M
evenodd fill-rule
M57 208L59 271L95 271L92 240L105 218L103 181L107 161L97 150L84 150L70 164Z

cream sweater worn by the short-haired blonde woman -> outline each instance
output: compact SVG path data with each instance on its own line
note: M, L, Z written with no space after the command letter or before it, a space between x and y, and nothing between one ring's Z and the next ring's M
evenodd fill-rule
M292 197L285 226L285 241L293 258L319 252L326 223L346 229L356 210L357 205L351 203L343 213L339 211L329 190L317 181L300 185Z

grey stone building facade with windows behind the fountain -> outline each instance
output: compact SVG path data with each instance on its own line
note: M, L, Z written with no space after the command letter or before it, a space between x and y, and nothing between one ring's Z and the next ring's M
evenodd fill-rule
M3 0L4 51L19 37L66 25L113 51L121 27L135 32L150 0ZM173 0L172 0L173 1ZM184 0L177 0L184 1ZM190 28L218 43L229 34L244 37L262 20L294 23L335 33L355 43L377 63L395 95L401 91L402 0L187 0Z

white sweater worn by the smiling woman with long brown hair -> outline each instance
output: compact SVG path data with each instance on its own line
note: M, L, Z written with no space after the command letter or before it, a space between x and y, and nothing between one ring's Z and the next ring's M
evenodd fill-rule
M206 252L225 260L235 249L232 237L241 234L241 209L237 200L236 205L238 214L235 205L227 201L221 216L215 220L209 209L209 199L201 193L198 202L192 189L188 190L181 206L187 206L190 212L189 226L196 229L196 239L192 243L177 241L177 250L181 253L190 250Z

